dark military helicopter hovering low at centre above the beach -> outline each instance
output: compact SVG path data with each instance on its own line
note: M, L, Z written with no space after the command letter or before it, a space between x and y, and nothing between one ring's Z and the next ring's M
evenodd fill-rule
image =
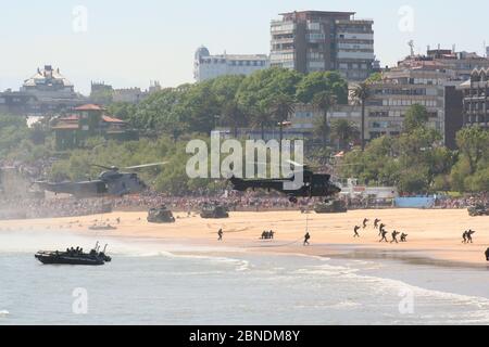
M285 179L239 179L231 177L229 181L233 190L246 192L249 189L265 189L277 191L286 194L292 204L298 203L298 197L325 197L327 198L339 194L341 189L331 182L331 176L325 174L314 174L308 166L294 162L288 162L301 171L294 172ZM292 187L297 175L303 175L300 187Z

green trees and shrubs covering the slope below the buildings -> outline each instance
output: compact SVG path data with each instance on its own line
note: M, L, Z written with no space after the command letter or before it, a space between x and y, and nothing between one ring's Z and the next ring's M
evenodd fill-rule
M369 83L378 77L372 76L353 92L362 104L363 118ZM189 155L185 149L189 139L209 141L209 132L215 126L227 126L235 132L238 127L253 127L264 133L287 120L300 101L313 102L326 115L316 125L317 137L329 133L339 149L348 151L348 142L359 136L359 129L344 119L334 121L330 128L327 121L327 111L335 101L346 101L347 89L336 73L304 76L281 68L167 88L137 105L109 105L109 113L142 130L139 141L121 143L92 138L86 141L86 149L62 154L53 150L48 121L28 129L23 117L0 116L0 159L32 163L64 156L49 172L57 181L97 178L100 169L91 164L125 167L167 160L166 166L141 170L141 178L168 194L213 191L225 182L190 180L186 175ZM456 138L460 150L452 152L441 145L441 134L427 127L428 120L426 107L413 105L406 113L403 133L375 139L364 152L348 152L340 176L359 178L367 184L396 185L408 193L489 190L489 132L480 127L464 128ZM309 156L315 163L327 164L331 151L327 146L313 149Z

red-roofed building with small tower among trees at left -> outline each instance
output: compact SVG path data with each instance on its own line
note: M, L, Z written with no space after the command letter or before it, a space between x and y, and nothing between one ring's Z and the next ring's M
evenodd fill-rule
M95 104L75 107L73 114L58 118L51 129L60 151L83 146L91 137L120 141L138 138L127 121L108 115L105 108Z

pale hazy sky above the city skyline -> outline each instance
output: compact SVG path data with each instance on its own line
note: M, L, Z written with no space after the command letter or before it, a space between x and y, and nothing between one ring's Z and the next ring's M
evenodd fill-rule
M77 5L87 9L86 31L83 14L73 14ZM482 54L489 44L487 0L0 0L0 90L18 89L45 64L84 93L90 80L115 88L189 82L199 46L211 54L268 53L269 21L293 10L374 18L383 65L408 55L411 39L419 52L440 43Z

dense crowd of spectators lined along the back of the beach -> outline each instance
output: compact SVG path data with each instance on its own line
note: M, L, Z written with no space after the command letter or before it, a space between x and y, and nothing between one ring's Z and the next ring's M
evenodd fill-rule
M289 202L281 194L265 195L259 192L223 192L213 195L167 196L147 192L137 196L104 198L13 198L0 197L0 219L58 218L103 214L111 210L149 210L165 205L173 211L199 211L205 204L222 204L231 211L304 210L313 209L321 198ZM392 203L372 202L362 198L347 200L350 209L391 207ZM389 206L390 205L390 206ZM467 208L475 205L489 206L489 194L481 193L460 198L437 196L435 208Z

